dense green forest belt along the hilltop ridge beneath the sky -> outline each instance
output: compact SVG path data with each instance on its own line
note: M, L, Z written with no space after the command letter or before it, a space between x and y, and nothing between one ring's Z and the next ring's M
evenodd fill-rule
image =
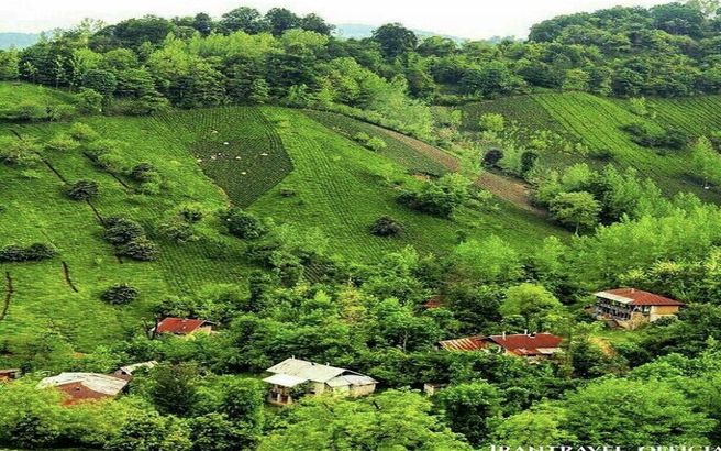
M340 40L322 18L286 9L86 21L21 52L0 53L0 79L91 89L146 113L171 105L282 101L341 108L429 132L418 102L459 102L535 89L615 96L721 90L716 11L690 2L613 8L533 26L526 42L420 38L400 24ZM342 106L342 107L339 107Z

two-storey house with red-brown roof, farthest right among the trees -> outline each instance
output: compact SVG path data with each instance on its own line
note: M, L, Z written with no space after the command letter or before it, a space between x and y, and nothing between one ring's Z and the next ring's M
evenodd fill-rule
M634 329L647 322L673 317L684 302L635 288L617 288L595 293L595 314L612 326Z

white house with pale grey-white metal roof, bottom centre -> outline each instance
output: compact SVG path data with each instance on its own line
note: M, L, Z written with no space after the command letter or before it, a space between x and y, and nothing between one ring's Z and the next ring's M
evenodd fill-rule
M273 373L263 381L270 384L268 402L289 405L299 394L343 394L352 397L365 396L376 391L377 381L351 370L291 358L266 370Z

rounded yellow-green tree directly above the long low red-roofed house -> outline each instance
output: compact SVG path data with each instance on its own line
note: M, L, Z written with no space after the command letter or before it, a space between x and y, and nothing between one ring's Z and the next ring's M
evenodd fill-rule
M543 286L525 283L506 290L500 312L506 319L523 317L528 330L542 331L548 316L562 307L561 301Z

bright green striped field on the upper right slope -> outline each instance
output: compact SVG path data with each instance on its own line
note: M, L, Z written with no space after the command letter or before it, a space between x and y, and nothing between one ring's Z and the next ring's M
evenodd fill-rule
M705 99L705 100L703 100ZM606 99L588 94L541 94L464 107L466 125L473 127L485 112L507 113L522 127L551 130L570 140L581 141L594 150L608 150L613 162L635 167L642 176L653 178L667 194L694 191L708 200L719 200L716 193L705 191L689 179L687 151L659 153L631 141L621 128L632 122L646 122L654 129L681 127L692 133L712 127L718 119L710 114L717 106L716 98L701 100L653 100L656 119L644 119L630 112L623 100ZM701 103L703 108L692 106ZM689 113L694 110L692 113ZM551 154L544 156L551 165L574 163L584 158L578 155ZM592 162L598 164L598 162Z

